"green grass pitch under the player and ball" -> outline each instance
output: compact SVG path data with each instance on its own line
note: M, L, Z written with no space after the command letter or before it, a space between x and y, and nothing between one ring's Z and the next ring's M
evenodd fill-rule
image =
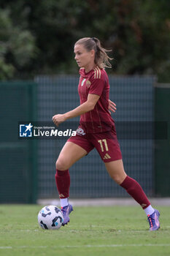
M139 206L74 207L60 230L42 230L42 206L0 206L0 255L164 256L170 255L170 206L159 206L161 229L148 230Z

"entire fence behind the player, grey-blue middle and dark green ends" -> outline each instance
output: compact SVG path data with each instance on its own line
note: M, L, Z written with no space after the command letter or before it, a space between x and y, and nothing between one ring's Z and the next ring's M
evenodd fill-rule
M35 83L0 83L1 203L36 203L37 197L58 197L55 161L66 138L19 138L19 124L46 124L54 114L76 108L80 104L78 80L68 75L39 76ZM109 82L110 99L117 104L112 117L126 172L139 181L147 195L169 196L169 85L158 85L153 77L138 76L109 76ZM147 125L154 120L167 124L166 138L153 139L155 131ZM66 121L70 129L78 124L79 118ZM163 135L164 130L159 132ZM95 149L70 168L70 175L71 197L127 196L109 178Z

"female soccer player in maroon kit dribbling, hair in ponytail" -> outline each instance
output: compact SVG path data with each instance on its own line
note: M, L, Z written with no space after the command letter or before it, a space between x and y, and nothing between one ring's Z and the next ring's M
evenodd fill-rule
M109 79L104 69L112 67L107 50L101 47L97 38L85 37L75 43L74 54L80 67L80 105L67 113L53 116L53 122L57 126L69 118L80 116L76 136L67 140L56 162L55 181L61 200L63 225L69 222L72 211L72 205L69 204L69 167L96 148L109 176L142 206L147 214L150 230L158 230L159 211L152 208L142 187L127 176L123 167L115 122L109 113L109 109L114 111L115 106L113 102L109 102Z

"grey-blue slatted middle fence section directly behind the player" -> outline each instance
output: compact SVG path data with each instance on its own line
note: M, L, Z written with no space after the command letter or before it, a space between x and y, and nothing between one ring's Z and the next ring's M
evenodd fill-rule
M56 113L65 113L80 104L77 76L39 76L38 121L51 121ZM153 121L152 77L109 76L110 99L117 104L112 117L117 122ZM74 118L78 126L79 118ZM70 124L72 128L72 124ZM119 131L117 130L117 134ZM119 135L118 135L119 138ZM120 136L121 138L121 136ZM58 197L55 188L55 160L66 140L39 140L39 197ZM150 139L120 139L125 170L136 178L147 195L154 193L153 141ZM71 197L124 197L126 192L109 178L96 150L70 168Z

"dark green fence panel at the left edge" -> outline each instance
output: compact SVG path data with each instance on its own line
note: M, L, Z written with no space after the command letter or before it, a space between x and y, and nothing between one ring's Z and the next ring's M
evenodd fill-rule
M0 202L36 203L36 141L19 140L18 121L36 120L36 83L0 83Z

